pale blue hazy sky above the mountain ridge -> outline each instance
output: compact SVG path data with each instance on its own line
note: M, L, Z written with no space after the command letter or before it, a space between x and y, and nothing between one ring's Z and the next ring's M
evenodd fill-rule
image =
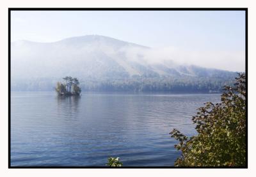
M175 48L183 60L200 58L196 62L205 67L245 67L244 11L12 11L11 22L12 41L99 34L158 51L164 48L165 53Z

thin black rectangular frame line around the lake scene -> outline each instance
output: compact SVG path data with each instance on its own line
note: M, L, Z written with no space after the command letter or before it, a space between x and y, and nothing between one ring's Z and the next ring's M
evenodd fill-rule
M246 166L175 167L175 166L11 166L11 11L245 11L246 74ZM248 8L8 8L8 169L246 169L248 168Z

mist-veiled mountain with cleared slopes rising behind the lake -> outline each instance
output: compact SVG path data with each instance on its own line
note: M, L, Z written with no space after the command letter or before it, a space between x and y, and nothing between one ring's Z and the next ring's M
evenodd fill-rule
M160 57L152 61L148 59L151 50L98 35L52 43L15 41L11 44L12 90L49 90L64 76L79 78L85 90L122 90L122 85L128 87L125 90L143 90L145 81L159 85L161 80L161 84L182 80L196 84L214 79L220 85L236 76L234 72L180 65ZM115 88L116 84L121 88Z

